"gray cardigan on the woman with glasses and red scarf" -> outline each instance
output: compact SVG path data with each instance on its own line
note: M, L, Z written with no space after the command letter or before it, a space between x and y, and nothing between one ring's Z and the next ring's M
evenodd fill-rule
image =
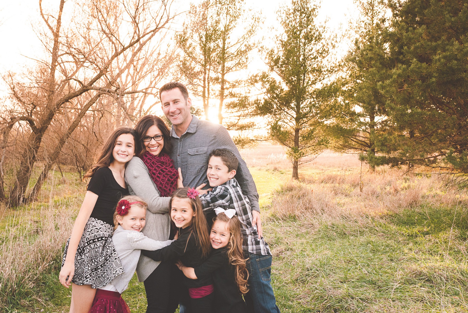
M169 239L170 232L170 197L160 197L156 184L151 179L148 168L139 157L133 157L125 169L125 182L131 195L140 197L148 204L146 210L146 226L142 233L147 237L164 241ZM140 256L137 265L137 275L140 282L144 281L158 267L154 261L144 255Z

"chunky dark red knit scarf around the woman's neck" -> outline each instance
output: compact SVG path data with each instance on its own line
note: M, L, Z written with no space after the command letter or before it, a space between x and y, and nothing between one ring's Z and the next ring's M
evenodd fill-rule
M153 155L146 151L140 159L148 167L149 175L156 184L161 197L169 197L177 188L179 173L167 154Z

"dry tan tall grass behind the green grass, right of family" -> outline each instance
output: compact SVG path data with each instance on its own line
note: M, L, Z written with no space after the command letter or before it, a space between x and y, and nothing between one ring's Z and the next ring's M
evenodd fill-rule
M272 213L280 216L320 214L326 218L358 218L420 206L467 205L466 191L446 183L440 175L411 175L381 167L362 175L358 169L319 171L300 182L289 181L272 196Z

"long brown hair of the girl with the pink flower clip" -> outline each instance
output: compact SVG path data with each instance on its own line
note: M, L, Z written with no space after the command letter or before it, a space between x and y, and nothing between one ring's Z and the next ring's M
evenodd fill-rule
M195 199L189 198L187 196L188 191L189 188L186 187L176 189L169 200L169 208L172 207L172 199L174 198L187 199L189 201L190 207L195 212L195 216L192 218L192 231L189 234L189 238L187 238L187 243L189 242L190 236L193 234L197 241L198 248L202 251L202 258L207 259L210 255L211 244L202 202L198 196L196 196Z

